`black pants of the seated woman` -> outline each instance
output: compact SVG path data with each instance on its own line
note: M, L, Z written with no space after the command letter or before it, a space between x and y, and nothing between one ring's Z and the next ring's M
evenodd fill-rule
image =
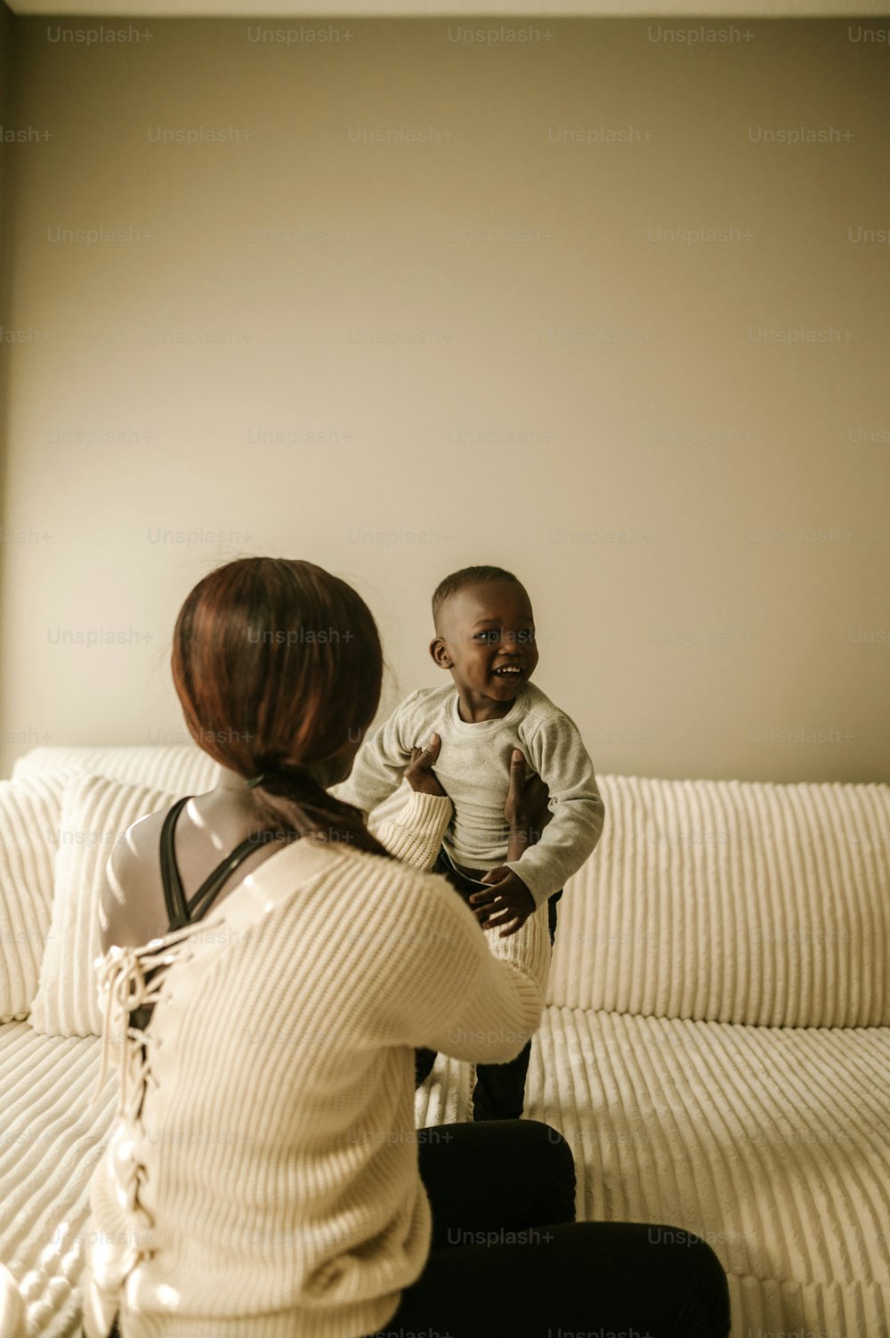
M432 1248L380 1338L725 1338L729 1294L677 1227L574 1222L574 1161L535 1120L419 1129Z

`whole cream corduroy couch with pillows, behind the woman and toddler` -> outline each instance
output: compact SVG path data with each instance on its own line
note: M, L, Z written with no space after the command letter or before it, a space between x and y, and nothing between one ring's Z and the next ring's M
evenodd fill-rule
M67 974L95 947L86 884L134 805L214 776L191 747L43 747L0 783L1 1338L79 1331L116 1085L91 1101L102 1024ZM559 906L526 1101L574 1151L578 1216L704 1238L733 1338L886 1338L890 785L600 785L606 830ZM72 795L92 816L72 819ZM439 1056L418 1125L467 1119L470 1090Z

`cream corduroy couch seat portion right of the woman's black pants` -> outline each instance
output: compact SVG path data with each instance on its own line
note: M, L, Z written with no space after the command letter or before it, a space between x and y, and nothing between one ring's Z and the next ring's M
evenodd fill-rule
M527 1089L574 1151L580 1216L707 1240L733 1334L890 1333L890 1029L549 1008Z

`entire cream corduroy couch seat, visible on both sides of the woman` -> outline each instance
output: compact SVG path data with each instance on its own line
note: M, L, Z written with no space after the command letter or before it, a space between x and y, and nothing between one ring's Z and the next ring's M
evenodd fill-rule
M0 1260L29 1338L76 1333L88 1180L114 1116L99 1041L0 1028ZM571 1144L578 1216L671 1223L729 1275L733 1338L890 1333L890 1030L794 1030L549 1008L526 1116ZM419 1124L468 1115L439 1056Z

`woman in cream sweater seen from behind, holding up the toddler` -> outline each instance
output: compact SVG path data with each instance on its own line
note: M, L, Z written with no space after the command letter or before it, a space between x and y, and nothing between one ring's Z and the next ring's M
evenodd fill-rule
M423 872L451 816L435 744L380 840L328 793L381 672L364 602L308 562L228 563L179 613L177 693L222 772L110 862L100 987L122 1084L91 1184L87 1338L724 1335L705 1244L571 1222L555 1131L415 1131L414 1048L515 1056L549 941L539 914L483 934Z

